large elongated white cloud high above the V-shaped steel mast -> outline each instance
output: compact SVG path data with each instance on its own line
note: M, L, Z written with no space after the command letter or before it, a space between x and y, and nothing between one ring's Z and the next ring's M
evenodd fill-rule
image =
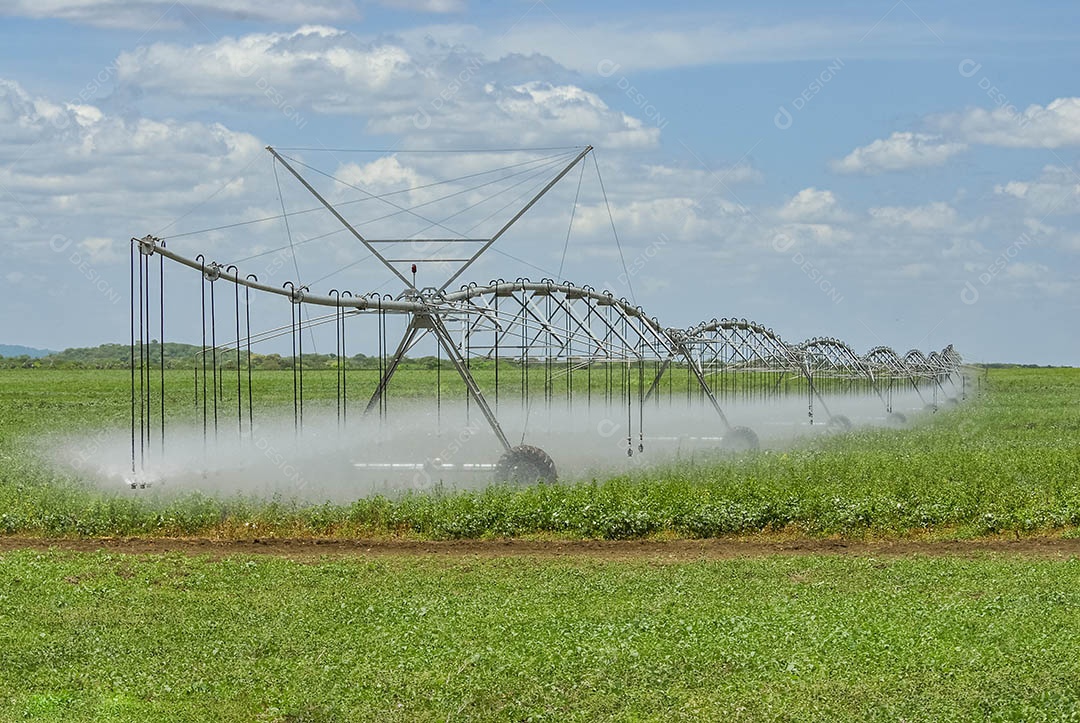
M643 148L660 128L609 107L542 56L489 61L461 45L362 40L325 26L208 44L153 43L120 55L122 92L307 115L351 115L407 146L465 143Z

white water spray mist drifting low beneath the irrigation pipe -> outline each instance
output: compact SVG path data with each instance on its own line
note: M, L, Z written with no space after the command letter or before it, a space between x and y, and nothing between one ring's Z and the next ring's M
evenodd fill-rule
M767 450L836 433L827 407L855 427L890 424L876 397L826 397L814 405L783 397L768 401L727 401L733 426L752 428ZM914 392L893 394L893 411L912 416L923 411ZM662 470L674 463L715 463L727 431L703 400L658 398L644 410L593 400L586 404L532 402L504 404L497 411L511 444L546 451L561 481L603 480L635 470ZM895 417L893 418L893 420ZM162 448L157 439L135 455L145 459L133 474L131 439L121 431L69 438L52 446L58 465L103 488L158 495L201 492L215 496L248 495L345 503L376 494L407 491L480 490L495 482L502 445L475 405L402 402L380 418L352 415L339 423L333 407L310 405L301 429L292 414L248 427L222 424L173 427ZM145 455L145 457L143 456ZM136 466L137 467L137 466Z

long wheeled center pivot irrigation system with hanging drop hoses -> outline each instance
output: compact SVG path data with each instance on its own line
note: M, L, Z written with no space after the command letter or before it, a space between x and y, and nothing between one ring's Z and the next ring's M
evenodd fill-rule
M201 425L204 442L226 431L241 440L254 437L255 419L261 414L262 405L257 403L259 393L253 392L252 346L275 337L292 339L292 359L286 358L293 371L292 416L297 434L302 433L303 337L316 326L334 329L336 380L332 389L322 385L325 393L322 399L314 400L311 371L308 370L309 415L313 409L324 415L333 414L327 410L336 410L339 427L349 424L350 399L356 401L357 386L352 381L350 390L350 383L357 372L350 371L347 339L360 338L361 345L368 346L377 342L377 383L374 391L370 385L364 389L366 403L361 401L361 405L365 417L377 415L379 419L387 418L391 383L407 354L417 349L421 339L429 339L428 344L433 339L438 362L434 371L437 377L435 399L431 401L442 403L445 358L463 383L467 418L478 413L502 450L497 461L458 467L494 469L497 481L550 482L556 479L552 457L538 446L525 443L524 425L521 443L515 444L508 434L504 419L508 403L514 404L517 412L524 410L526 419L529 410L538 406L557 405L565 415L592 409L594 403L609 411L618 410L618 425L610 425L620 430L618 437L602 434L597 440L598 443L605 439L608 442L618 440L625 445L626 455L633 456L645 452L646 442L662 439L645 433L649 410L660 407L662 401L671 405L676 398L680 404L697 402L699 409L707 411L715 427L706 430L713 434L706 439L714 440L717 447L751 451L758 448L758 436L750 427L738 426L729 418L729 402L802 396L809 424L816 421L842 430L849 428L851 421L829 410L829 404L836 405L836 400L842 399L840 396L876 398L888 424L904 424L904 415L893 410L895 393L914 392L933 409L940 400L955 403L964 393L961 359L951 346L940 352L923 354L912 350L903 356L891 348L877 347L860 356L836 338L814 337L801 344L788 344L771 329L746 319L713 319L688 329L666 327L626 298L550 278L540 281L498 279L486 284L453 287L575 166L581 164L583 171L583 161L593 150L592 146L572 149L572 158L564 156L558 168L549 166L546 183L536 192L532 192L534 186L528 200L515 205L516 212L495 233L483 238L470 238L457 231L451 238L369 238L296 168L311 166L272 147L267 150L273 158L275 177L280 165L319 202L316 209L309 211L329 214L340 225L338 230L350 235L368 257L389 270L403 291L391 295L332 289L321 295L312 293L298 280L269 284L260 282L254 273L244 273L234 264L207 260L203 254L189 258L167 249L167 239L154 236L132 239L132 486L146 484L144 472L156 455L164 454L168 442L166 426L174 426L173 421L166 425L165 404L165 259L200 276L203 339L189 378L192 380L193 418L197 427ZM598 164L596 170L598 177ZM380 197L356 186L350 187L362 191L364 200L390 203L397 209L392 213L415 213L418 207L399 205L387 200L389 195ZM580 180L578 188L580 192ZM606 192L604 202L607 203ZM607 211L610 214L610 207ZM283 213L280 218L287 224L287 214ZM572 218L571 212L571 227ZM433 224L441 229L448 228L446 219ZM289 240L292 244L292 238ZM405 254L400 252L403 247L408 250ZM416 253L418 249L432 247L435 249L433 254ZM461 253L462 249L467 251ZM450 255L446 255L446 250ZM157 265L151 264L154 256ZM434 267L423 268L442 272L441 284L418 287L418 264L434 264ZM153 273L153 266L158 267L157 273ZM172 280L168 284L171 290L176 286ZM227 287L224 294L220 286ZM257 294L281 297L282 310L286 306L289 308L288 324L253 331L251 304ZM157 303L153 303L153 295L157 295ZM229 316L233 318L219 321L219 312L230 310L233 313ZM388 319L393 329L404 326L395 346L388 337ZM393 323L395 319L396 324ZM151 331L157 331L160 344L151 343ZM219 333L232 338L219 343ZM819 411L816 418L815 410ZM233 416L234 419L227 421ZM422 450L417 452L424 453ZM557 450L555 452L557 455ZM424 464L438 466L443 463L432 463L428 457Z

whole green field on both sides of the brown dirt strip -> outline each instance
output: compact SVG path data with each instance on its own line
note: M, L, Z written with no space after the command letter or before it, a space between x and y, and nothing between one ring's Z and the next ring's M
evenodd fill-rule
M291 375L267 374L284 400ZM909 429L783 453L315 506L112 495L40 458L51 436L123 428L126 381L0 376L0 721L1080 720L1071 552L64 549L131 534L1075 537L1080 370L991 370L977 399Z

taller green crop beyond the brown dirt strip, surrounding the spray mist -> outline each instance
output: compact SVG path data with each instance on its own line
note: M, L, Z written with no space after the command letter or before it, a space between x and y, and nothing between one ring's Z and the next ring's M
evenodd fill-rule
M402 393L430 380L424 372L409 375L399 379ZM285 403L292 375L259 376L262 393ZM318 379L313 387L334 384L333 373L309 376ZM345 505L133 498L100 492L38 456L51 434L125 428L126 386L126 373L114 371L0 373L0 533L970 537L1071 535L1080 524L1080 370L990 370L980 397L923 415L909 429L864 429L783 453L550 486L374 496ZM359 392L362 384L356 387ZM187 394L178 392L170 404L190 410Z

